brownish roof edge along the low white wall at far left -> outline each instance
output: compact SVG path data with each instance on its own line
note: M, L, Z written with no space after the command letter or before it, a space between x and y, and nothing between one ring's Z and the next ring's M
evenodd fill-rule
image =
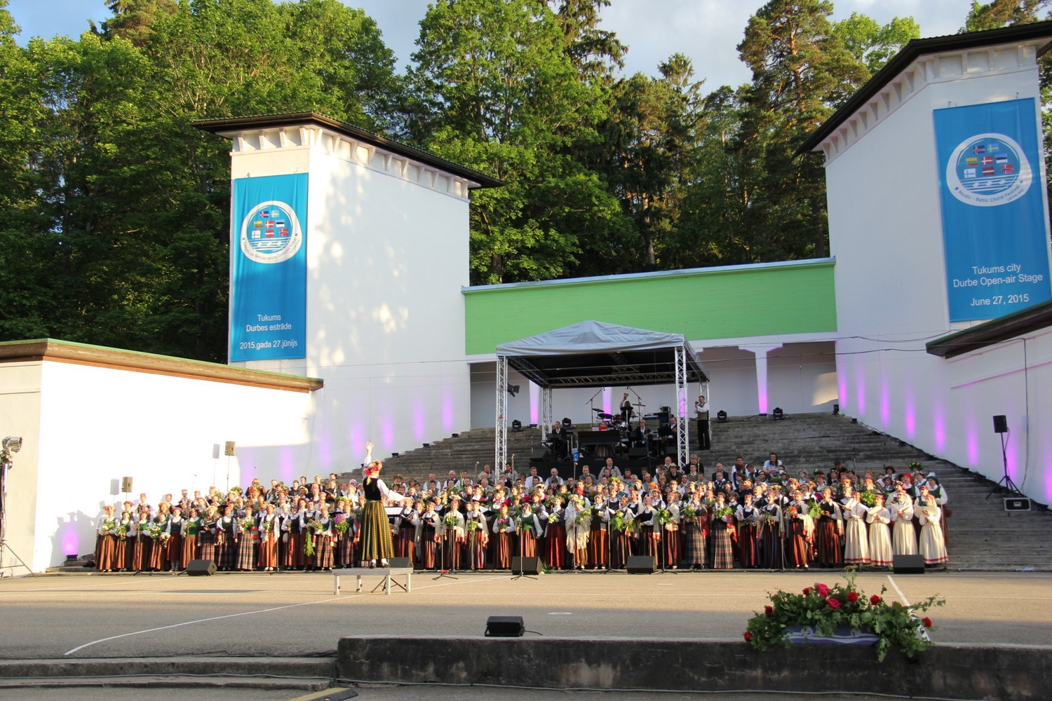
M171 355L141 353L78 344L70 341L55 338L37 338L34 341L7 341L0 343L0 363L32 363L54 360L73 363L114 370L130 372L146 372L157 375L170 375L189 379L204 379L214 383L231 385L247 385L265 389L288 390L292 392L312 392L324 387L325 383L318 377L302 377L281 372L266 370L249 370L220 363L190 360Z

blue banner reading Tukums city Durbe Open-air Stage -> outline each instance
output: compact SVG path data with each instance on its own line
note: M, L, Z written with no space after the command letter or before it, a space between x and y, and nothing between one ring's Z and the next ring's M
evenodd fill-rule
M951 322L1052 298L1033 99L934 110Z

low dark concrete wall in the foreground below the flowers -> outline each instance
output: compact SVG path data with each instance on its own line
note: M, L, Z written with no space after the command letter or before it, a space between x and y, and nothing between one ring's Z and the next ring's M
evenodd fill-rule
M366 682L881 693L949 699L1049 698L1048 647L937 645L917 660L877 663L871 646L625 638L341 638L340 679Z

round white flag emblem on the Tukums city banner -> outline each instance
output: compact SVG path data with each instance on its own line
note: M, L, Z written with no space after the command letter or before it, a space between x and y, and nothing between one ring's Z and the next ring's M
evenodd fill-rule
M950 193L965 204L996 207L1018 200L1033 173L1023 148L1003 133L979 133L960 142L946 164Z

